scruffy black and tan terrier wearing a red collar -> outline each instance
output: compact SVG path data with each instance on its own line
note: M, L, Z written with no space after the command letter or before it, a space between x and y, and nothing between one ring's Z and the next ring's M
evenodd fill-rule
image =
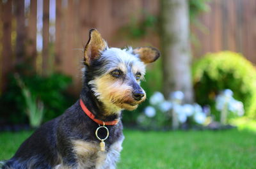
M2 168L115 168L124 140L121 112L145 100L140 80L145 64L158 57L151 47L109 48L92 29L84 48L80 99L37 129Z

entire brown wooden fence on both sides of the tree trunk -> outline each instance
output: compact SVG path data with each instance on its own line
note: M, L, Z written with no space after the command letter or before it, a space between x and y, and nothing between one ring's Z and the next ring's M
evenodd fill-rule
M159 0L0 0L0 89L15 65L30 61L38 73L61 71L81 85L83 47L90 28L97 28L110 46L154 45L159 38L131 40L122 27L147 13L157 16ZM232 50L256 63L256 1L212 0L211 11L193 26L198 44L193 55ZM193 24L193 23L192 23ZM158 27L158 26L156 26ZM153 33L154 34L154 33ZM0 92L1 93L1 92Z

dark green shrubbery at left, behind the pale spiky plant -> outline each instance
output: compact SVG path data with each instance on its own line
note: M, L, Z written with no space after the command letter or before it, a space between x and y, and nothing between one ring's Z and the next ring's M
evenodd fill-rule
M54 73L47 77L42 75L20 75L32 98L37 98L44 103L43 122L57 117L72 104L72 97L67 92L72 80L66 75ZM0 98L1 121L10 123L28 122L26 99L22 95L17 79L10 75L8 89Z

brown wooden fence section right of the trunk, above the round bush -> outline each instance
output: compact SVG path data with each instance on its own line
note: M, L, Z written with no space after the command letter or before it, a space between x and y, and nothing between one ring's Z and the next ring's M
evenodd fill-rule
M231 50L256 64L256 1L212 0L211 10L200 16L202 26L193 29L198 47L195 57L207 52Z

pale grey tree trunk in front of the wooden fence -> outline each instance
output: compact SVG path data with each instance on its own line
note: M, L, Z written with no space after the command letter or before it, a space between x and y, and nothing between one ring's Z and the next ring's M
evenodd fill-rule
M161 26L164 96L182 91L193 103L188 0L161 0Z

